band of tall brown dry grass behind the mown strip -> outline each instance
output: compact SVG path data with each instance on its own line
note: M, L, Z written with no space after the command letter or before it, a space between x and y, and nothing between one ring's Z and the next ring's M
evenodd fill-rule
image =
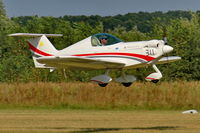
M200 82L0 83L0 108L7 106L73 109L200 109Z

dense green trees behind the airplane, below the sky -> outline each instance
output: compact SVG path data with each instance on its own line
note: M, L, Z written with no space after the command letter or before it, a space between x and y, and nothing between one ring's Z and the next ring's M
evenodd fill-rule
M163 80L200 79L200 13L199 11L138 12L116 16L19 16L8 18L0 0L0 82L29 81L88 81L100 71L36 69L25 38L11 38L8 34L51 33L63 34L52 38L57 49L63 49L88 36L106 32L123 41L163 39L174 47L170 55L182 57L175 63L158 65ZM151 67L128 70L139 80L154 70ZM111 72L117 76L118 71Z

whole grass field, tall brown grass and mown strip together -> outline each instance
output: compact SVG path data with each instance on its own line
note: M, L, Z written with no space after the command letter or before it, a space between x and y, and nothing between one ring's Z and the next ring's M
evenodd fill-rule
M1 83L0 133L199 133L200 82Z

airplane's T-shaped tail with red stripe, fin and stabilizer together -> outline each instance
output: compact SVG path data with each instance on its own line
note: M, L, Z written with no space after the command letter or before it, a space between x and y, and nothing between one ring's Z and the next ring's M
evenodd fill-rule
M30 51L33 54L33 61L37 68L48 68L44 64L37 62L37 58L42 56L55 56L58 50L52 45L47 37L62 36L61 34L32 34L32 33L15 33L9 36L26 36L28 39Z

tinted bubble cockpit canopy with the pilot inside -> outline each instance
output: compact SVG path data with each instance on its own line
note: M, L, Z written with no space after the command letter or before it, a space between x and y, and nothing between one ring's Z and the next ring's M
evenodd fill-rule
M122 42L122 40L107 33L95 34L91 38L92 46L108 46L119 42Z

